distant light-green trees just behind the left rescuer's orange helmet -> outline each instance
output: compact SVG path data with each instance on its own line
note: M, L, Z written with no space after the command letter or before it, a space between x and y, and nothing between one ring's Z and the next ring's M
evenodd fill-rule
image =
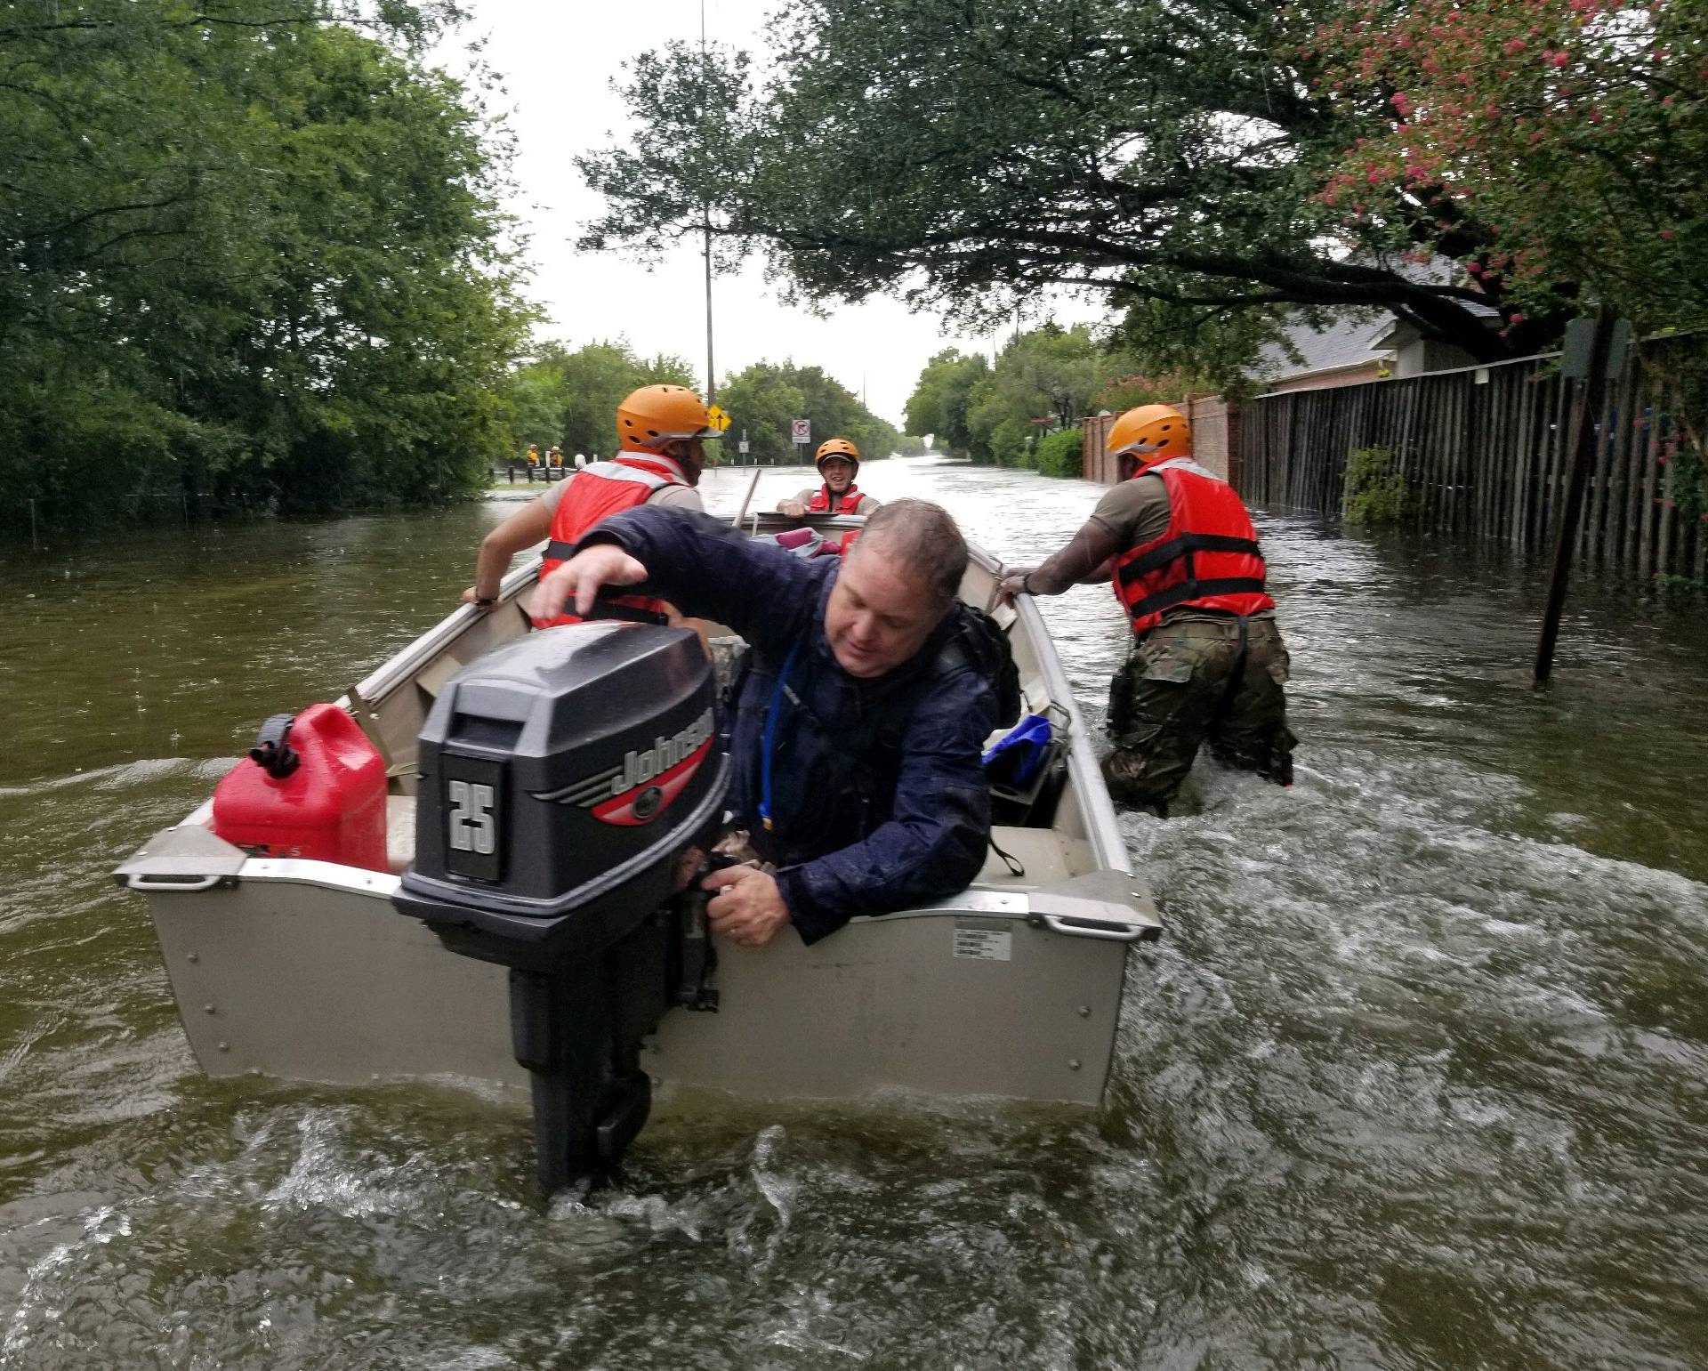
M576 352L545 343L511 377L509 451L538 442L541 452L557 444L569 456L608 458L617 447L618 401L658 382L699 384L683 357L639 357L625 341L588 343Z

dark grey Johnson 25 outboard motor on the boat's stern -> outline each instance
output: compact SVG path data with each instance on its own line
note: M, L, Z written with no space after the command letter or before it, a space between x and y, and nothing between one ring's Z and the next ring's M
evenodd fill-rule
M622 1158L651 1106L640 1038L716 1007L699 876L729 758L692 630L579 623L463 668L420 734L415 864L393 901L511 968L547 1193Z

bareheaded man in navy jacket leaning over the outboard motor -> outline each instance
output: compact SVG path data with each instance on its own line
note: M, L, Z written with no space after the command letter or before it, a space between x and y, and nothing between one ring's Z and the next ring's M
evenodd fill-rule
M793 925L816 942L977 876L980 753L1020 691L1006 639L956 599L965 567L955 521L924 500L885 505L845 558L810 562L646 507L606 519L540 582L541 616L588 613L601 586L623 586L746 639L724 724L736 826L763 866L705 879L714 931L758 946Z

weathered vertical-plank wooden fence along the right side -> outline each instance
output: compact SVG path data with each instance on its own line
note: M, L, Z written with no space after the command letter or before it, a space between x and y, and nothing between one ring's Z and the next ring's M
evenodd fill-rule
M1708 336L1645 340L1609 377L1578 558L1640 577L1705 579L1708 522L1674 504L1679 449L1665 367ZM1556 355L1247 401L1235 481L1259 505L1339 514L1346 456L1385 447L1419 528L1551 548L1570 470L1571 386ZM1682 493L1682 492L1679 492ZM1691 500L1684 502L1691 505Z

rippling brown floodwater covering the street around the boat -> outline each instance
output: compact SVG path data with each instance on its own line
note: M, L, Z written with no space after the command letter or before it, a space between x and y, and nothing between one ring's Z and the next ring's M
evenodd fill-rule
M1016 562L1098 493L864 475ZM1097 1115L700 1108L547 1207L514 1110L200 1077L108 872L512 507L0 553L0 1368L1708 1366L1705 601L1580 579L1535 693L1486 546L1261 521L1298 782L1122 814ZM1112 598L1045 613L1100 717Z

